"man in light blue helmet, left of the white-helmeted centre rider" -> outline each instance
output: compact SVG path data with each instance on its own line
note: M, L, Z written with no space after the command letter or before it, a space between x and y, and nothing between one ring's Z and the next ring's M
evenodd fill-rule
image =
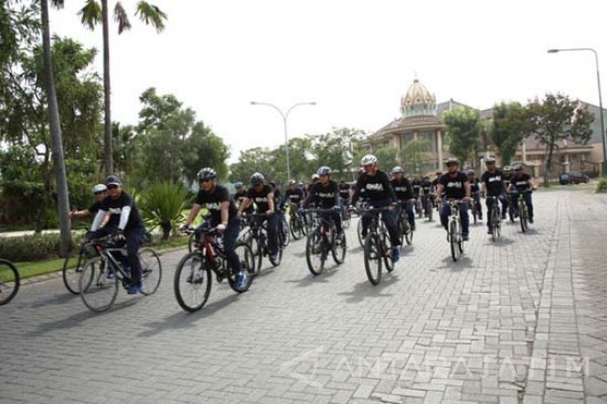
M332 209L332 212L319 214L319 216L331 217L337 228L337 237L339 238L343 231L341 225L339 187L337 187L335 181L331 180L331 168L323 165L316 173L319 176L319 180L310 188L310 193L302 203L302 206L307 207L310 202L314 202L316 207L320 209Z

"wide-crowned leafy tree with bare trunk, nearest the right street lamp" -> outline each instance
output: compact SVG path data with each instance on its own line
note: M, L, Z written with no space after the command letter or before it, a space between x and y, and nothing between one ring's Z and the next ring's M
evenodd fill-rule
M588 143L592 135L594 115L588 108L578 108L578 102L561 94L546 94L543 101L535 99L527 106L531 134L546 147L546 170L544 184L552 168L554 149L562 141Z

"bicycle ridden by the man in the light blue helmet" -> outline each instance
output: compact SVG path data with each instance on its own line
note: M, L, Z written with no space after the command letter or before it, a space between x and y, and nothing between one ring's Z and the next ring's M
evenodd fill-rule
M308 270L317 276L325 268L325 261L328 258L329 251L337 265L344 263L347 244L345 233L342 231L340 237L337 237L337 228L330 217L324 217L323 213L331 213L333 209L315 208L317 213L316 228L308 234L305 246L305 258L308 263Z

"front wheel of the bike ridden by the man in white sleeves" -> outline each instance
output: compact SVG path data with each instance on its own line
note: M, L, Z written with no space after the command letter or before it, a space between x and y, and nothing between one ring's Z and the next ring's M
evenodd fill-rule
M84 264L80 274L80 297L84 305L96 313L109 309L118 296L117 271L108 278L111 266L103 257L95 257Z

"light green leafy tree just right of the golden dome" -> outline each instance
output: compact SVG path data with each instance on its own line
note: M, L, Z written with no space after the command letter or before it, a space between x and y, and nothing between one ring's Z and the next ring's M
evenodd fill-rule
M464 165L480 142L478 111L464 107L453 108L443 113L443 122L447 126L449 152Z

